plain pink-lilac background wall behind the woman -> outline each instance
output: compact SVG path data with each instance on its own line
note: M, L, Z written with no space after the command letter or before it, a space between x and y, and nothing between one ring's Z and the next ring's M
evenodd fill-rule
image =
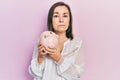
M28 65L33 47L57 1L0 1L0 80L32 80ZM120 0L64 2L72 9L74 34L84 41L80 80L120 80Z

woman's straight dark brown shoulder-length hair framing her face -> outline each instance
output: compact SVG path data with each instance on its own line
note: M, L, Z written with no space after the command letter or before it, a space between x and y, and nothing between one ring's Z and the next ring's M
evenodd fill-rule
M48 30L54 32L53 24L52 24L52 17L53 17L53 13L54 13L55 8L58 6L65 6L65 7L67 7L67 9L69 11L70 21L69 21L68 29L66 30L66 37L70 38L72 40L73 39L72 13L71 13L70 7L67 4L65 4L64 2L57 2L57 3L53 4L52 7L50 8L49 13L48 13L48 21L47 21Z

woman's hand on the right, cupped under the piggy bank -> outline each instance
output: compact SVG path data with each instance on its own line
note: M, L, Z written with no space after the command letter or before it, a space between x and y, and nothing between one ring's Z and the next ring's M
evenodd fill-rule
M58 62L62 57L60 50L58 48L46 47L46 52L49 55L49 57L52 58L56 62Z

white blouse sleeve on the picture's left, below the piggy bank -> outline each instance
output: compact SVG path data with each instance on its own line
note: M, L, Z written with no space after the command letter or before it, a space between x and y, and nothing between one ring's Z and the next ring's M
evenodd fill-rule
M31 64L29 65L29 73L35 78L37 77L41 78L43 75L45 62L43 61L41 64L39 64L37 57L38 57L38 42L33 50Z

